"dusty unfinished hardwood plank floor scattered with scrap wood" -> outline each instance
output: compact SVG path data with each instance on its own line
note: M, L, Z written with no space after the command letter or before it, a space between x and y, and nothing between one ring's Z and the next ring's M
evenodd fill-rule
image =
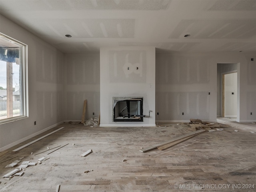
M60 192L256 191L256 134L250 133L256 132L256 125L225 123L231 126L223 131L206 131L166 150L145 153L140 149L191 131L185 124L176 123L166 127L107 128L64 123L0 157L0 162L15 157L0 164L0 191L53 192L58 184ZM64 147L52 153L57 148L46 151L56 146ZM90 149L92 153L80 156ZM42 151L46 152L37 154ZM23 176L4 180L4 174L14 169L5 166L21 157L31 162L49 159L25 168Z

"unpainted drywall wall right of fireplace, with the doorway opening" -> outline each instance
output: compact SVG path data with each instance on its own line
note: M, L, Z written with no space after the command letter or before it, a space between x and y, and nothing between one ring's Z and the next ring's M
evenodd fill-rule
M254 61L251 61L251 58L254 58ZM238 63L240 90L238 90L237 121L255 121L255 53L157 53L156 112L159 112L158 120L186 122L190 118L199 118L216 121L218 63ZM252 115L250 115L251 111Z

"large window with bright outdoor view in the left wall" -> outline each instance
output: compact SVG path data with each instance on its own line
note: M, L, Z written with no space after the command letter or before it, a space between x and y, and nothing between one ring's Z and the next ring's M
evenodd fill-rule
M26 48L0 33L0 123L28 115Z

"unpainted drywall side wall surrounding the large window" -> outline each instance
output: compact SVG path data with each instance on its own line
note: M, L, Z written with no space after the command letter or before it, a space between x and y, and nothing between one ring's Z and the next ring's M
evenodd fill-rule
M28 45L29 100L28 118L0 124L2 151L63 121L64 55L2 15L0 32Z

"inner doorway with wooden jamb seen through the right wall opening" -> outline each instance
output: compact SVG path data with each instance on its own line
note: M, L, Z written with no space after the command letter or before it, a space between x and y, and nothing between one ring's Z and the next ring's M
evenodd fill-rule
M237 118L237 72L222 74L222 117Z

